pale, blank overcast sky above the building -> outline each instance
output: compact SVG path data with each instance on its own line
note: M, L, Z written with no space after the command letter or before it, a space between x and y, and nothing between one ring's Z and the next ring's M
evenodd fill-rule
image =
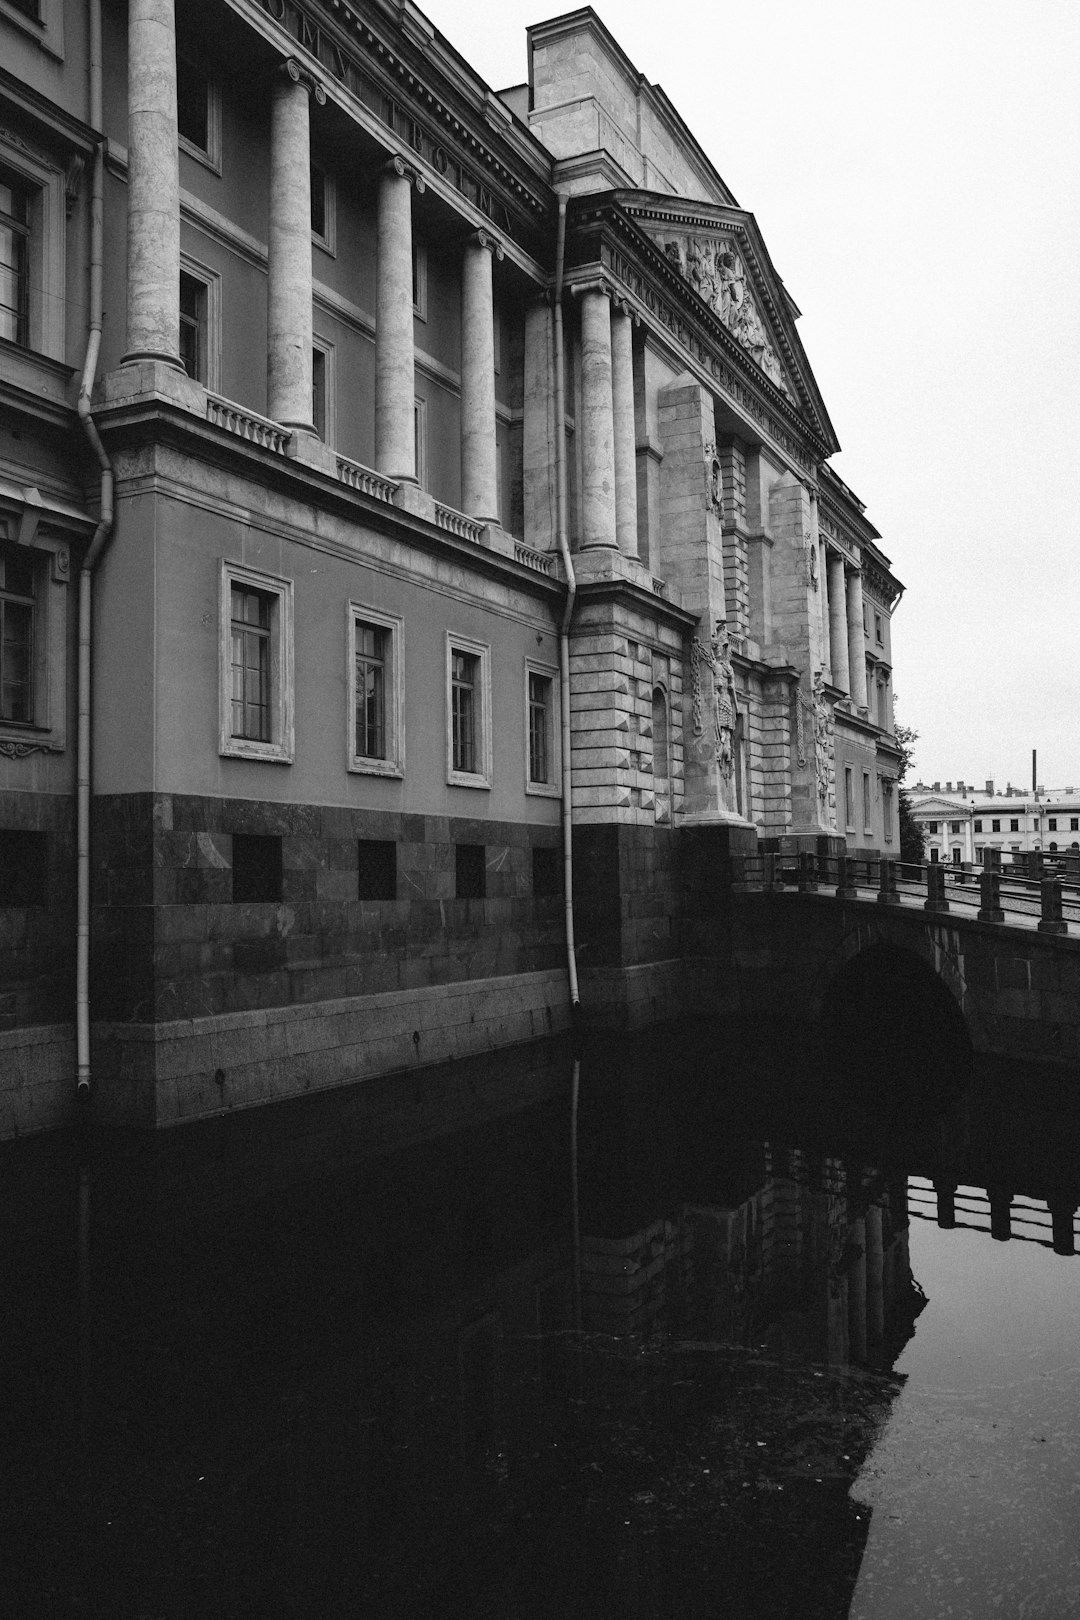
M495 89L568 5L421 0ZM803 311L913 778L1080 789L1080 3L604 0ZM1072 248L1069 246L1072 243Z

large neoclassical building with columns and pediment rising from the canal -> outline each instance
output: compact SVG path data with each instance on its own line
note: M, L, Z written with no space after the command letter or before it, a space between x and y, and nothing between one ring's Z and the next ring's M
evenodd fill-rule
M722 1011L732 852L897 844L900 586L675 109L589 8L0 37L0 1134Z

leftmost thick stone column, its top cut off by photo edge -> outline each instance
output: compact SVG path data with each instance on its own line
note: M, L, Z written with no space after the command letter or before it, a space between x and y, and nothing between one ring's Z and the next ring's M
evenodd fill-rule
M128 8L128 360L180 368L180 167L173 0Z

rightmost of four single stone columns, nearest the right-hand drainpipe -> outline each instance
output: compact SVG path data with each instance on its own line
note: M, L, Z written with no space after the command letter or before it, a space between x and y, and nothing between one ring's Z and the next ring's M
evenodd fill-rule
M478 230L461 259L461 510L499 522L495 471L495 326L491 296L495 238Z

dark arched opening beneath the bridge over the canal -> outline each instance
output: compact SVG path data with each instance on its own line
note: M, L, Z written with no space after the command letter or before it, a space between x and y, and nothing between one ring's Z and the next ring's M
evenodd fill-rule
M965 1089L978 1045L962 957L936 930L855 928L831 953L811 1016L832 1074L947 1097Z

